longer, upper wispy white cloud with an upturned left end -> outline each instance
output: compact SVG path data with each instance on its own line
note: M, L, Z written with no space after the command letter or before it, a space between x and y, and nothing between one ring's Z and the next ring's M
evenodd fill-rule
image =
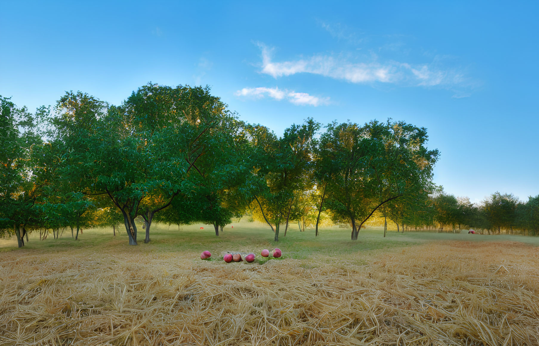
M411 64L398 61L378 61L376 55L370 61L357 61L351 54L323 55L309 58L275 62L273 48L258 44L262 53L261 73L277 79L298 73L309 73L344 80L350 83L392 83L404 86L441 86L452 88L465 84L465 76L455 68L443 68L435 60L432 63Z

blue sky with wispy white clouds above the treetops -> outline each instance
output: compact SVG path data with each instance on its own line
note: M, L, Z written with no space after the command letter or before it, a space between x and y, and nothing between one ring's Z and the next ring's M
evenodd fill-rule
M149 81L209 84L278 134L391 117L429 130L447 192L526 199L539 194L538 15L536 1L0 1L0 95L35 109L65 90L119 104Z

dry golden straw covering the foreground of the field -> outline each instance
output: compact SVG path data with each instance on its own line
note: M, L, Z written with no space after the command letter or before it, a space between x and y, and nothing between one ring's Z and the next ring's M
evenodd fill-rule
M447 242L264 265L197 257L3 253L0 344L539 344L532 246Z

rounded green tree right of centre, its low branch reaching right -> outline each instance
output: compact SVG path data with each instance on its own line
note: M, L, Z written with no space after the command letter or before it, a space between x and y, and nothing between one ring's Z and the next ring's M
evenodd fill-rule
M336 218L350 221L353 240L383 204L433 188L438 151L427 150L426 140L424 128L404 122L328 125L320 150L336 172L326 187L327 205Z

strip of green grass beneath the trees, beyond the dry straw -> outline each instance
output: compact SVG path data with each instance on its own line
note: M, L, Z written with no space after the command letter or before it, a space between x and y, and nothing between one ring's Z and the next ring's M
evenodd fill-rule
M204 229L200 229L203 227ZM40 241L39 232L30 234L30 241L26 242L24 250L37 251L63 251L73 248L95 248L114 250L130 248L134 252L202 252L209 250L212 259L220 258L226 252L253 252L257 255L257 263L265 263L267 259L260 256L262 249L272 250L279 248L283 252L282 258L306 259L322 255L329 257L343 256L351 253L370 252L381 249L412 246L429 241L517 241L539 245L539 237L524 237L511 235L468 235L435 232L410 231L397 233L388 231L383 237L382 228L362 229L357 241L350 240L350 229L338 227L322 228L319 236L315 237L312 229L300 232L298 226L291 224L285 237L281 230L279 241L274 241L274 233L261 223L241 221L227 225L219 236L211 225L193 224L183 227L154 224L150 231L150 243L144 244L144 230L138 227L138 246L129 246L127 233L123 227L116 229L113 236L112 229L89 229L79 233L75 241L71 231L65 230L63 235L54 239L51 234L47 239ZM61 233L61 231L60 231ZM17 249L14 238L0 239L0 251Z

